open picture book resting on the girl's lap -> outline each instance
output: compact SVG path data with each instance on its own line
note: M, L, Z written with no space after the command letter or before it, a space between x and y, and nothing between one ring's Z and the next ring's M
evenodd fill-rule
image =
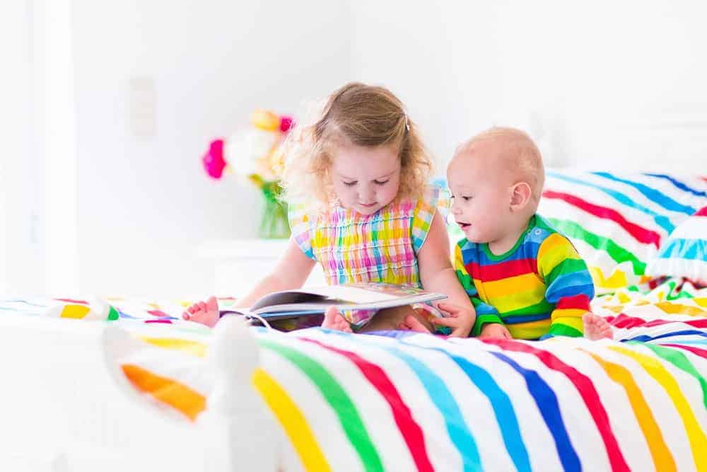
M236 313L249 318L275 321L324 313L332 305L337 306L339 311L380 310L445 298L446 295L415 287L364 282L274 292L256 301L250 309L221 310L221 316ZM363 323L365 321L354 321L354 324Z

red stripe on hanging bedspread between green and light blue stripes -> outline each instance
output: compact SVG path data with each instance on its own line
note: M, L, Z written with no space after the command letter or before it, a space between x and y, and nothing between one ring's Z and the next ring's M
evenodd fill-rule
M363 359L363 357L356 354L356 352L346 351L339 349L338 347L325 345L324 343L320 343L320 341L309 338L299 339L348 357L349 360L353 362L356 367L358 367L361 374L368 379L370 384L372 384L375 389L380 392L383 398L385 398L385 401L387 401L388 405L390 405L393 418L395 418L395 424L402 434L402 437L405 439L405 443L410 450L412 459L415 461L417 470L434 471L425 447L425 438L422 434L422 428L412 418L410 408L408 408L405 404L402 397L398 393L397 388L395 388L395 385L393 385L387 374L383 372L383 369L378 367L376 364Z

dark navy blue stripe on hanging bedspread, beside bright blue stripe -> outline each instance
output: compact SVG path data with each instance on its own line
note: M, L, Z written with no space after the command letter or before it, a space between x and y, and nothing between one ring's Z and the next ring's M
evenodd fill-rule
M550 388L534 370L520 367L517 362L501 354L501 352L489 353L498 357L498 359L501 359L503 362L506 362L506 364L513 367L516 372L525 378L528 392L535 401L550 434L552 434L552 439L554 439L555 448L557 449L562 467L566 471L581 471L582 464L567 434L567 428L565 427L562 414L560 413L559 403L557 403L557 396L555 392L552 391L552 388Z

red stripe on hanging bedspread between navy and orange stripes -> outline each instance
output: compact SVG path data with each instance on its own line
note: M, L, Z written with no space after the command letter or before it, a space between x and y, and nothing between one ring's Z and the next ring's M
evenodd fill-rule
M590 415L592 415L594 419L595 425L597 425L599 434L604 441L604 447L606 447L607 454L609 454L609 462L612 465L612 471L630 471L629 465L626 464L626 459L624 459L624 454L622 454L621 449L619 449L617 438L614 436L614 432L612 432L607 410L604 409L604 405L602 405L602 401L599 398L599 393L597 393L597 389L588 376L585 376L585 374L582 374L574 367L565 364L558 357L551 354L551 352L537 349L525 343L496 339L483 339L482 341L484 341L484 343L497 345L504 350L532 354L540 359L549 369L565 374L574 384L575 388L577 388L584 403L587 405Z

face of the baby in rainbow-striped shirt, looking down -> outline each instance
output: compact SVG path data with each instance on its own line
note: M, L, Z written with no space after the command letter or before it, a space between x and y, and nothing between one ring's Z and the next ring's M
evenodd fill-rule
M455 221L472 243L489 243L504 236L510 215L512 179L493 166L493 142L480 143L457 154L447 168ZM496 167L496 168L494 168Z

